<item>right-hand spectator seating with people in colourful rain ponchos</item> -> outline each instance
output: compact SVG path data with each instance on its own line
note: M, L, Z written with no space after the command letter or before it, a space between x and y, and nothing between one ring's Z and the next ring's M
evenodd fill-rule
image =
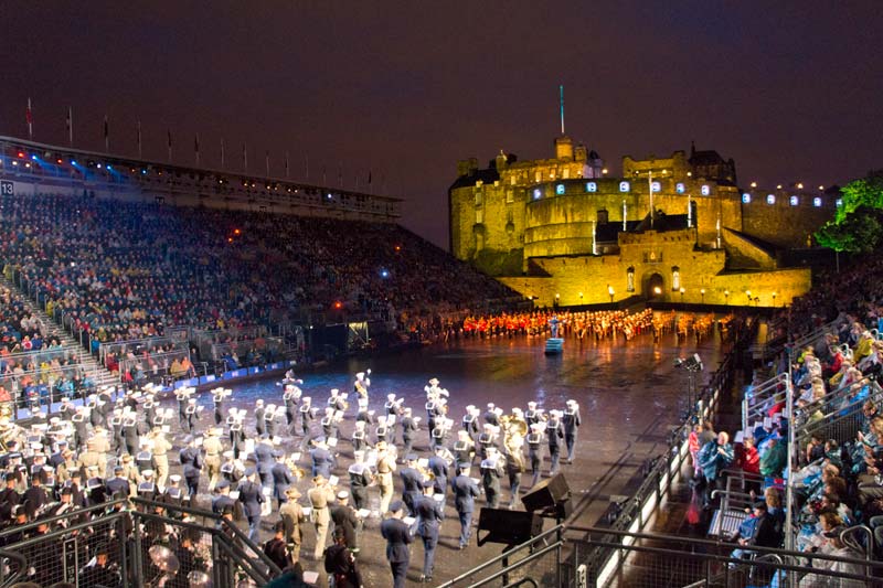
M754 516L745 507L756 500L754 492L777 488L784 495L790 485L794 526L783 537L791 533L799 549L827 552L826 533L836 530L852 544L854 556L881 555L883 417L877 407L883 388L876 377L883 368L883 308L874 302L883 300L881 269L880 260L865 261L836 279L821 279L820 287L795 301L789 317L796 344L783 349L768 370L757 371L746 389L736 470L725 485L719 482L724 491L717 493L722 501L712 534L732 536L740 524L751 526ZM797 457L791 464L790 432ZM859 525L873 528L874 537Z

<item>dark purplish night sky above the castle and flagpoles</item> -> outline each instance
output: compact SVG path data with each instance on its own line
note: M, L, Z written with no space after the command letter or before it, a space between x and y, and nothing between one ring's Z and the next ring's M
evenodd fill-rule
M724 6L726 8L724 8ZM404 197L446 245L457 160L552 154L566 130L621 156L716 149L741 183L843 183L883 168L883 3L0 2L0 133Z

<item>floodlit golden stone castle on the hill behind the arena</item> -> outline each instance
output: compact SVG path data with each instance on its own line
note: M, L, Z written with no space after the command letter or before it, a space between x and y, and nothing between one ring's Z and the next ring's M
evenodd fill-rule
M836 192L741 190L732 159L695 147L626 156L619 178L570 137L554 149L552 159L501 151L485 169L458 163L448 191L457 258L538 306L642 297L775 307L809 289L810 270L781 267L777 254L808 245Z

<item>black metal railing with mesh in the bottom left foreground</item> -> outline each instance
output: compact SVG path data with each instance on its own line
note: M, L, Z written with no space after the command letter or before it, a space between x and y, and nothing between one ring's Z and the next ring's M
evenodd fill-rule
M211 582L233 588L263 586L280 574L237 524L168 502L131 503L135 507L115 500L0 532L0 585L66 581L83 588L141 588Z

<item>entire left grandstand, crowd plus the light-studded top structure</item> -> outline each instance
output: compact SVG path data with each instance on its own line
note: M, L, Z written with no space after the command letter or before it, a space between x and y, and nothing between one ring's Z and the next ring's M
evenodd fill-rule
M124 382L315 359L327 324L401 340L521 301L395 224L396 199L9 138L0 177L6 278Z

